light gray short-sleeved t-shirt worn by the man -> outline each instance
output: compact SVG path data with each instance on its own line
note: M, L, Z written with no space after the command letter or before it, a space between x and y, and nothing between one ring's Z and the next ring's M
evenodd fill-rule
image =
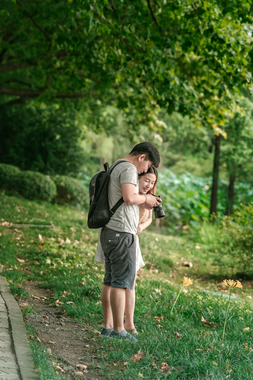
M108 184L108 200L110 209L122 197L122 184L134 184L135 193L139 193L137 169L134 164L128 161L119 163L110 174ZM110 218L106 226L111 230L128 232L135 235L137 232L138 223L138 204L128 204L124 202L115 211L115 214Z

